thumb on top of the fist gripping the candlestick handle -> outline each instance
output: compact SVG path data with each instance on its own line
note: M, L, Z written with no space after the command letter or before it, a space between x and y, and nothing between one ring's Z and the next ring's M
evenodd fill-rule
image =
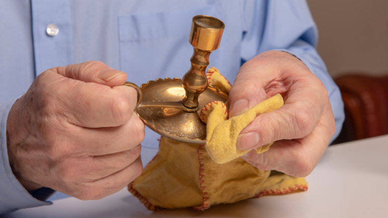
M110 87L123 85L126 74L123 71L112 69L101 61L86 61L58 67L58 74L83 82L98 83Z

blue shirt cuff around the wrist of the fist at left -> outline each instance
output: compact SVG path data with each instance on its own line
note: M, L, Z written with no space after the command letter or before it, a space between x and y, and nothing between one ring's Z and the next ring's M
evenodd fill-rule
M12 173L7 152L7 118L15 101L0 104L0 214L18 208L52 204L42 200L54 192L49 188L41 188L29 193Z

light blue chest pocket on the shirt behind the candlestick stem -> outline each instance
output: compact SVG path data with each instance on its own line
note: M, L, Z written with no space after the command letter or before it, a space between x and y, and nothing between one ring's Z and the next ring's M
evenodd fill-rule
M120 69L138 86L157 78L181 78L190 67L188 43L196 15L222 19L220 5L118 17Z

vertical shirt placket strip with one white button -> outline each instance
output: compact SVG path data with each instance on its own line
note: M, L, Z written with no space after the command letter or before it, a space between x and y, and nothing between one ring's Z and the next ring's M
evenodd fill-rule
M73 63L68 0L31 0L35 75Z

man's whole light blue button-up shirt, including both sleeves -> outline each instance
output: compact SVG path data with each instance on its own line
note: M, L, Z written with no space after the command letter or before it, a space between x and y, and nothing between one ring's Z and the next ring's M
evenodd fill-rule
M200 14L225 23L220 48L210 56L211 66L233 82L241 62L258 53L280 49L294 54L325 84L336 119L333 138L339 134L344 120L341 94L314 48L317 30L305 1L3 0L0 213L50 204L20 185L7 155L9 110L38 74L50 67L100 60L126 72L128 81L137 85L182 77L192 54L191 18ZM46 34L51 23L59 29L56 36ZM158 137L147 130L143 147L157 148Z

